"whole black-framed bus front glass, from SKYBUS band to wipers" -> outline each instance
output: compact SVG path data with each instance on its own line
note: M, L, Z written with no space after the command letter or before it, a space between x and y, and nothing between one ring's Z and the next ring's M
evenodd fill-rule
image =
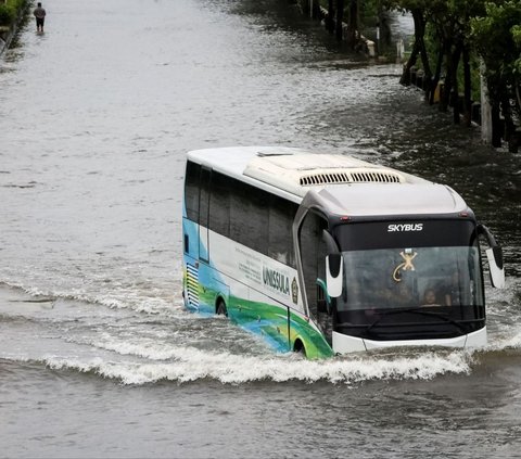
M483 327L472 222L392 225L336 230L344 258L344 289L335 302L339 331L399 340L455 336Z

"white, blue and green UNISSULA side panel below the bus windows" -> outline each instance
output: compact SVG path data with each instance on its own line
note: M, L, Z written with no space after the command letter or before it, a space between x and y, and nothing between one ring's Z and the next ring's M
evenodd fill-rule
M199 259L199 226L193 221L183 219L183 234L188 235L188 253L185 253L185 278L187 273L196 268L196 285L199 305L195 309L202 314L215 314L218 296L226 302L228 316L238 326L253 333L262 335L265 341L277 352L292 350L295 340L300 339L309 358L332 355L332 350L323 336L305 320L302 313L289 309L260 289L270 290L271 295L282 298L292 297L295 293L294 307L300 308L301 295L291 292L288 288L281 291L263 283L263 265L271 265L277 271L288 272L288 267L279 265L268 257L259 256L255 252L213 232L209 233L211 265ZM264 260L264 264L263 262ZM267 264L267 265L266 265ZM225 275L224 271L234 276ZM192 276L193 277L193 276ZM294 279L294 275L285 276ZM239 279L237 279L239 278ZM267 279L266 279L267 282ZM190 283L185 280L185 285ZM193 282L192 282L193 283ZM252 284L249 286L247 284ZM228 286L229 285L229 286ZM298 290L298 289L297 289ZM187 303L187 301L186 301ZM190 305L188 305L190 307ZM290 310L290 313L289 313ZM288 317L291 323L288 324Z

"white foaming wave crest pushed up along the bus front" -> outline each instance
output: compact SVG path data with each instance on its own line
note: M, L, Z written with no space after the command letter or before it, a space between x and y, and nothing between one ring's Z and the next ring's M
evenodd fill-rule
M84 360L59 356L47 356L33 361L43 364L52 370L93 373L132 385L160 381L188 383L199 380L215 380L224 384L254 381L327 381L347 385L373 380L430 380L446 373L468 374L473 361L471 354L467 352L445 355L425 353L415 357L395 358L364 356L316 361L294 355L249 357L188 347L177 349L175 355L171 361L109 361L101 357Z

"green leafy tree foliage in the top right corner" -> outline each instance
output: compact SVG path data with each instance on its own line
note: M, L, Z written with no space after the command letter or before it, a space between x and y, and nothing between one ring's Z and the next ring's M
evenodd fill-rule
M328 3L320 1L323 7ZM382 9L419 13L427 22L423 62L435 68L443 54L442 78L452 74L456 63L450 64L450 59L457 62L457 50L470 50L472 99L480 95L480 60L486 66L491 98L517 100L516 91L521 93L521 0L359 0L359 7L363 16ZM457 66L458 81L462 81L461 67ZM519 100L517 110L521 113Z

